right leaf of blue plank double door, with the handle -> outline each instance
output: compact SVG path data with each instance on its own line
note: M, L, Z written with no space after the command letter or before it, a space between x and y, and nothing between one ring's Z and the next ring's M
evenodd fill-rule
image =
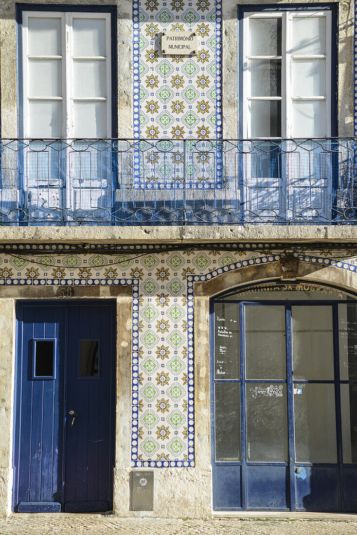
M66 512L112 509L114 347L111 304L69 308Z

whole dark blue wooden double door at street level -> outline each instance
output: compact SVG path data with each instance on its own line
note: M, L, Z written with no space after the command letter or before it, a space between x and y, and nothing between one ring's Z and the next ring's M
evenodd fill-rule
M111 303L17 309L13 508L112 508L115 314Z

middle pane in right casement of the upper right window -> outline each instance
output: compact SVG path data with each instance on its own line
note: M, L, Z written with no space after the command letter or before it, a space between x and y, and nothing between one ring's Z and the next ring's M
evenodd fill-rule
M293 59L293 97L315 97L326 94L326 60Z

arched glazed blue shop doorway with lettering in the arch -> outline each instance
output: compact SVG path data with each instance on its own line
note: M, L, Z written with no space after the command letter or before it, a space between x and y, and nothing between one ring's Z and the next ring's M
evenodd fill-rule
M211 299L215 510L357 511L356 299L306 280Z

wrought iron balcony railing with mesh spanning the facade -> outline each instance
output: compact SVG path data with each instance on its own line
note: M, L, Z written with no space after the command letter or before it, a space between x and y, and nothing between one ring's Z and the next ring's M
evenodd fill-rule
M356 224L354 139L0 140L2 225Z

